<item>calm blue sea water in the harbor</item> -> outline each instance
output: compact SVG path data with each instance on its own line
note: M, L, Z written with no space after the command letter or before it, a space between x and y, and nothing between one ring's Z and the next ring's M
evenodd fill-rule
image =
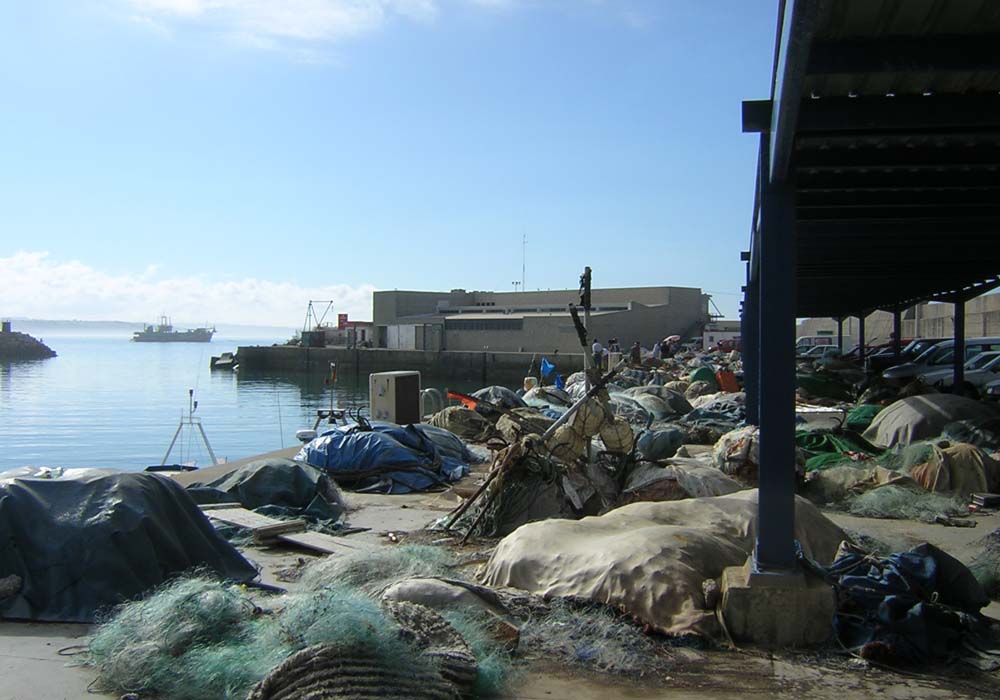
M247 375L208 367L212 355L238 345L286 338L132 343L128 335L43 336L58 357L0 364L0 471L159 464L187 410L188 389L195 390L194 415L219 459L296 445L295 431L311 428L316 410L330 406L324 373ZM424 386L444 382L425 378ZM339 406L366 405L367 379L342 376L333 393ZM169 462L189 461L210 463L200 437L185 428Z

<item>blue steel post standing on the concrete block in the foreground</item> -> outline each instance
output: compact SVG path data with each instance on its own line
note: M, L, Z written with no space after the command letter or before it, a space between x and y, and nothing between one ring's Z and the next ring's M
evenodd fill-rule
M771 182L767 134L761 141L759 571L795 568L795 190Z

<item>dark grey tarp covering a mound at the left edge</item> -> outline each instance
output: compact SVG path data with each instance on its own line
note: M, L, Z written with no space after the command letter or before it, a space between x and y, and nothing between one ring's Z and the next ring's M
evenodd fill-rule
M195 567L240 582L257 576L169 477L0 474L0 579L21 581L0 600L2 617L92 622L100 609Z

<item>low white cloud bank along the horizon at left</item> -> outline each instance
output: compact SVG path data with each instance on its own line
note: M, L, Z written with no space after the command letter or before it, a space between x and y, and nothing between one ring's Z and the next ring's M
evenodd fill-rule
M333 299L337 313L369 319L370 284L303 287L245 278L164 277L154 265L137 274L112 274L43 252L0 258L3 313L29 318L149 321L166 313L178 321L297 326L310 299Z

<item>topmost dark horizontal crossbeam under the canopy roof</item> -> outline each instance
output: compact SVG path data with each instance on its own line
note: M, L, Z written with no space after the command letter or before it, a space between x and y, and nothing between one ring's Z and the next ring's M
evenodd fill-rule
M997 71L997 46L995 34L818 41L809 52L808 70L810 75Z

